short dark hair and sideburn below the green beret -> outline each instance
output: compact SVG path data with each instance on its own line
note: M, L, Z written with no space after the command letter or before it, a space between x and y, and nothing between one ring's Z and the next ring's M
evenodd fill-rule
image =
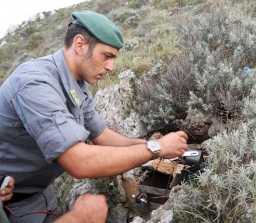
M91 32L84 28L84 26L81 26L77 23L70 23L68 25L68 30L66 30L66 36L64 40L64 46L66 48L71 48L74 37L76 35L82 35L84 39L86 39L87 43L89 44L89 48L85 57L91 57L94 47L97 45L97 43L101 43L101 41L93 35L91 35Z

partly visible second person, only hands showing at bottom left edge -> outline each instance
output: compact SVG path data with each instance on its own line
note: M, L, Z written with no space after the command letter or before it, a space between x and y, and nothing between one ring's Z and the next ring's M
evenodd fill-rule
M0 190L0 222L9 223L6 213L3 211L3 203L11 199L12 191L14 189L15 180L11 177L10 182L6 188ZM73 209L60 217L54 223L79 223L86 222L88 219L91 222L104 222L107 218L107 202L104 195L81 195L75 201ZM95 215L97 211L97 215Z

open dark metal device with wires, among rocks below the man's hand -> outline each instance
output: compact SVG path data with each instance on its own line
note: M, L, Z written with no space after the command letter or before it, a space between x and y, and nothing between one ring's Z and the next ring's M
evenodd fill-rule
M203 172L205 163L202 151L189 150L188 156L183 156L183 164L175 164L175 162L156 162L161 165L151 167L152 175L149 175L143 182L138 184L140 193L132 195L133 206L143 212L158 209L159 206L165 204L169 198L171 188L185 182L190 182L196 175ZM169 174L168 174L169 173Z

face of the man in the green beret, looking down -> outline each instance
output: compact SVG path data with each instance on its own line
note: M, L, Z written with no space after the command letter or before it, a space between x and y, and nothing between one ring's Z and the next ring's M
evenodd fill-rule
M84 51L87 52L87 50ZM93 52L91 52L91 57L86 58L86 52L81 57L78 76L89 84L96 84L98 80L104 78L104 75L107 75L107 72L113 70L118 49L103 43L97 43Z

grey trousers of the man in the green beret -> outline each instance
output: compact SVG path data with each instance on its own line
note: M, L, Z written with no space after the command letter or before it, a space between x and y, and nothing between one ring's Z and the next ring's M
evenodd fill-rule
M35 193L32 197L28 197L20 202L8 204L8 208L18 216L33 211L49 211L57 213L57 200L53 193L53 188L48 186L44 191ZM10 214L8 218L10 223L52 223L57 220L55 215L46 213L33 213L24 215L23 217L15 217Z

